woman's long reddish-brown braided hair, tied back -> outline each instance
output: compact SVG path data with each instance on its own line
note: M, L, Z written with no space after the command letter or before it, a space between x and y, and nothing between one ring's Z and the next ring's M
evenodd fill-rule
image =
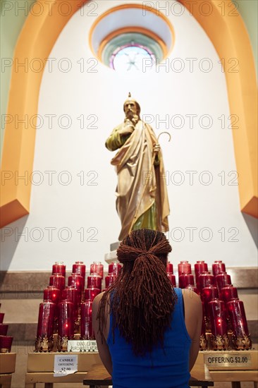
M166 260L171 245L159 231L139 229L123 239L117 257L123 268L116 281L102 296L97 319L103 338L107 305L115 327L132 344L135 356L164 346L164 331L171 325L176 293L166 274ZM111 303L110 303L111 301Z

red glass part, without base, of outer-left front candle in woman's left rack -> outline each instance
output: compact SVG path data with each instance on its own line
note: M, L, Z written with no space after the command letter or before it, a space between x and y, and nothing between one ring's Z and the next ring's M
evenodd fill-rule
M37 321L37 338L50 338L54 333L54 315L56 303L46 301L39 304L39 318Z

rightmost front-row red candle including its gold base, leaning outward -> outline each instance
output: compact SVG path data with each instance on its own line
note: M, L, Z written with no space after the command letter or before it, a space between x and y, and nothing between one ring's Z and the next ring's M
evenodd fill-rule
M232 299L227 303L228 313L233 331L233 344L236 350L252 348L250 332L247 327L244 303L239 299Z

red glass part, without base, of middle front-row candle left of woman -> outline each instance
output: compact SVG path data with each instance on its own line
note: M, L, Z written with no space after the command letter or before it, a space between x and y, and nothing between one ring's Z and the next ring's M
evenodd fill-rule
M74 305L70 301L59 302L59 337L73 339Z

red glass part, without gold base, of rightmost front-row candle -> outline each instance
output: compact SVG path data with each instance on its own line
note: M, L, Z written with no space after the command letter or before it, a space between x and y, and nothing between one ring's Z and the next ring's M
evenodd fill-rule
M244 303L235 298L227 303L228 313L231 320L233 334L235 337L249 336L249 330L247 327L247 320L245 317Z

